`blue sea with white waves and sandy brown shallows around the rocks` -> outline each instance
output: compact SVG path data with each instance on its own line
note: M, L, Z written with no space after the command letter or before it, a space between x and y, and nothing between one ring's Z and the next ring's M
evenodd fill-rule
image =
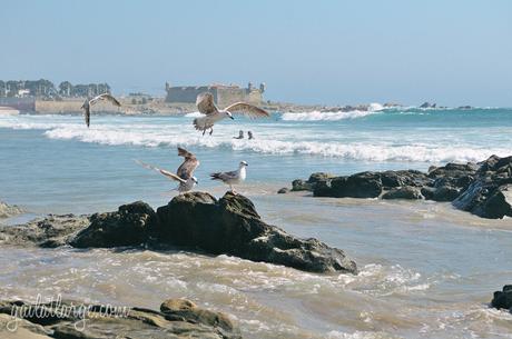
M312 172L419 169L512 154L512 109L275 112L194 130L197 113L0 113L0 200L29 213L90 213L144 200L166 205L174 182L134 160L176 170L176 147L200 160L198 190L221 197L208 173L249 163L237 188L265 221L344 249L361 272L315 275L187 251L0 247L0 298L38 293L158 308L171 297L233 315L245 338L512 338L512 315L489 308L512 283L512 219L450 203L277 195ZM254 140L236 140L238 130ZM16 222L7 220L3 222ZM1 221L0 221L1 222Z

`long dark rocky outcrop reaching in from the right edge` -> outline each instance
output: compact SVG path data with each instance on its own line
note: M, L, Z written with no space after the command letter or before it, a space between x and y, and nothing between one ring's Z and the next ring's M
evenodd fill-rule
M309 179L311 180L311 179ZM318 177L303 182L315 197L426 199L452 202L483 218L512 217L512 156L490 157L480 163L447 163L416 170L361 172Z

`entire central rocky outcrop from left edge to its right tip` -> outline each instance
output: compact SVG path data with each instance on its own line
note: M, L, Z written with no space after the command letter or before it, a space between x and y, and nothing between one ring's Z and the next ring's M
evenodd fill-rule
M0 227L0 241L76 248L179 246L312 272L357 271L342 250L316 239L298 239L265 223L249 199L230 192L219 200L205 192L180 195L156 212L137 201L90 217L49 216Z

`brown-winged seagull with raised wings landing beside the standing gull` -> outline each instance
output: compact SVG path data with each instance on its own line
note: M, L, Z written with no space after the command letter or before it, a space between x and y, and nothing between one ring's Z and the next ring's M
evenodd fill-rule
M140 160L135 161L147 169L155 170L167 178L178 181L179 186L177 187L177 190L179 193L183 193L188 192L198 183L197 178L194 177L194 171L199 166L199 160L197 160L196 156L180 147L178 147L178 156L184 157L185 161L178 167L176 175L165 169L145 163Z

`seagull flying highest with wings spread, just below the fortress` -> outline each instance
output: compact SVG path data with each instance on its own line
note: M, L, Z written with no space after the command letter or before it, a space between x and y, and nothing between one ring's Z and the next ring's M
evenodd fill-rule
M270 117L267 111L245 102L236 102L223 110L219 110L214 103L214 96L210 92L203 92L197 96L196 106L199 109L199 112L205 114L205 117L194 119L194 127L198 131L203 131L203 136L206 130L209 129L209 133L214 132L214 124L224 119L233 118L232 113L245 114L249 118L264 118Z

